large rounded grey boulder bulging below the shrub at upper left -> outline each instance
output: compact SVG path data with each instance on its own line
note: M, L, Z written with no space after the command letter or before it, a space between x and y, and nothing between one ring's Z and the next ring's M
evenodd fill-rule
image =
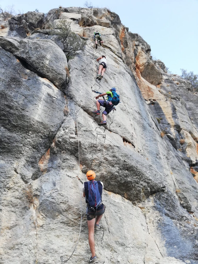
M52 40L22 40L20 49L15 55L59 89L65 89L67 58Z

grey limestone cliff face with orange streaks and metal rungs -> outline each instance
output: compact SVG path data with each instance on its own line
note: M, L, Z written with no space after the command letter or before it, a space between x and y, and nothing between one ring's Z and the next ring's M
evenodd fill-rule
M87 40L68 62L50 35L59 19ZM197 264L198 95L190 83L153 61L150 46L106 8L28 12L2 25L0 262L66 263L80 229L79 158L81 180L93 169L104 183L100 261ZM97 50L96 30L104 40ZM98 82L93 58L102 54ZM120 94L106 130L92 115L91 87ZM89 255L84 217L67 263Z

